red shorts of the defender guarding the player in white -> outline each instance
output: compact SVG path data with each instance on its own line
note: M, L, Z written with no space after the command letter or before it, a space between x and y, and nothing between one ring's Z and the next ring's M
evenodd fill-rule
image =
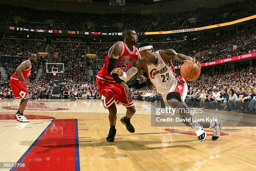
M123 87L117 82L110 82L99 76L96 77L97 89L100 92L102 104L105 108L110 107L114 102L122 103L125 107L133 106L133 100L129 103Z

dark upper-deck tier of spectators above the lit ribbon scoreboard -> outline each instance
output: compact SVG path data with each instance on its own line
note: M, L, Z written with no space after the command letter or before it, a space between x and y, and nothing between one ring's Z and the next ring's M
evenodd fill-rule
M52 10L35 10L33 8L3 4L0 4L0 8L1 26L97 32L120 32L127 28L132 28L138 32L195 28L237 20L255 14L253 0L230 3L222 5L219 8L198 8L197 10L179 14L70 13ZM15 23L13 20L8 20L8 18L13 18L13 16L23 17L25 21ZM190 22L188 21L189 18L195 18L195 20ZM54 24L45 24L44 21L46 19L54 20ZM87 27L86 22L93 22L94 26ZM124 23L123 28L113 26L114 23L118 22ZM156 24L152 25L152 23Z

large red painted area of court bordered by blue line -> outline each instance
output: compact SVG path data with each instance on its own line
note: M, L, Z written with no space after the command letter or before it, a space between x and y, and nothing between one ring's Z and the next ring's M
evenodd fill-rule
M75 148L76 119L56 119L22 163L26 171L75 171Z

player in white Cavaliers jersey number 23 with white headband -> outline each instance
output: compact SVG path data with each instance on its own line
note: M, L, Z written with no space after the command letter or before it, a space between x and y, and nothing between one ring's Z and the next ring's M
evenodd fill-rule
M131 77L133 77L138 70L146 72L150 81L154 84L157 91L162 94L164 102L167 102L173 108L178 107L182 112L179 115L182 118L190 118L192 121L192 115L186 113L187 105L185 104L185 97L187 94L187 84L184 78L178 76L175 73L174 66L172 65L172 60L177 61L188 61L193 60L200 65L198 61L192 59L190 56L176 53L173 49L159 50L154 52L154 48L149 42L141 43L139 47L139 53L142 59L138 59L135 65L126 72L121 69L114 69L112 72L118 74L120 79L127 82ZM144 79L145 77L141 77ZM184 122L185 125L191 126L199 141L203 141L206 138L206 133L203 128L211 128L213 131L212 140L218 140L220 138L220 122ZM202 126L201 126L202 125Z

